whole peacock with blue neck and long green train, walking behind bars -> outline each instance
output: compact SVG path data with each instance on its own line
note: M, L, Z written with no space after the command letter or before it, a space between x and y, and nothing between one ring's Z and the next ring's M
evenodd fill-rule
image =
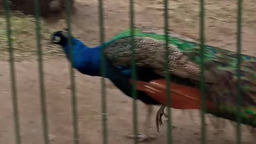
M73 67L85 75L100 76L100 52L106 60L106 77L123 93L131 97L131 31L125 30L103 45L90 47L72 37ZM67 34L55 32L52 42L63 47L68 55ZM139 140L155 138L149 135L150 115L153 105L162 105L156 115L156 124L162 123L161 116L166 106L165 85L165 36L145 33L134 29L135 62L137 67L138 99L146 103L148 114L145 134ZM200 44L177 37L168 37L169 71L171 76L172 108L200 109ZM231 51L205 45L206 112L235 121L236 106L236 56ZM242 123L255 127L255 65L256 58L242 55L241 93ZM158 128L159 129L159 128ZM131 138L134 135L130 135Z

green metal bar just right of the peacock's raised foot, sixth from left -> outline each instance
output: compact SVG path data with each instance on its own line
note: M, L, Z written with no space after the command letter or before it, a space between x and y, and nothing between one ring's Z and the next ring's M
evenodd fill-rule
M166 71L166 85L167 85L167 113L168 113L168 124L167 124L167 143L172 143L172 113L171 113L171 82L169 73L169 48L168 48L168 0L164 0L164 34L165 34L165 71Z

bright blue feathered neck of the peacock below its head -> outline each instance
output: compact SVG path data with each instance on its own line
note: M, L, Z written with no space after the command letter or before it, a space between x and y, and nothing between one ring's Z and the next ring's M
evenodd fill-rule
M90 48L76 38L73 38L72 45L73 68L85 75L101 76L102 46ZM64 46L64 50L68 57L68 45ZM109 78L111 74L108 71L108 67L106 67L106 77ZM124 69L122 71L124 75L130 76L130 69Z

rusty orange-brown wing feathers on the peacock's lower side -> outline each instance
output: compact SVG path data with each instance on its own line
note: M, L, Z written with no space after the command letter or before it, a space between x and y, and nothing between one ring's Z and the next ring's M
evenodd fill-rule
M136 81L136 89L146 92L149 97L167 105L167 89L165 79L150 82ZM171 107L175 109L200 109L201 93L199 89L171 83ZM206 108L212 108L210 101L206 101Z

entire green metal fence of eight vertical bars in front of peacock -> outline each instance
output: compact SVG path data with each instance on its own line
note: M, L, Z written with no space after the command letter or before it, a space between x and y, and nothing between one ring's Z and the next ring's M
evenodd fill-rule
M166 67L165 70L168 71L169 65L169 50L167 49L167 41L168 41L168 3L171 3L172 1L164 1L164 34L165 34L165 48L166 48ZM200 1L200 39L201 39L201 131L202 131L202 143L206 143L206 127L205 127L205 86L204 86L204 17L205 17L205 10L204 10L204 0ZM15 78L15 65L14 65L14 55L13 55L13 46L12 46L12 39L11 39L11 22L10 22L10 10L9 10L9 1L4 0L4 7L5 7L5 17L6 17L6 34L8 39L8 45L9 45L9 63L10 63L10 79L11 79L11 88L12 88L12 105L13 105L13 116L14 116L14 132L15 132L15 142L17 144L21 144L21 136L20 136L20 125L19 125L19 110L18 110L18 102L17 102L17 84L16 84L16 78ZM35 17L36 17L36 27L35 27L35 33L36 33L36 43L37 43L37 50L38 50L38 76L39 76L39 86L40 86L40 98L41 98L41 113L42 113L42 125L43 125L43 137L44 137L44 143L50 144L49 140L49 134L48 134L48 125L47 125L47 111L46 111L46 102L45 102L45 86L44 86L44 74L43 74L43 58L42 58L42 47L41 47L41 33L40 33L40 10L39 10L39 0L35 0ZM103 19L103 1L99 0L99 26L100 26L100 42L101 45L105 42L104 37L104 19ZM68 36L69 36L69 53L72 51L72 45L71 45L71 26L70 26L70 1L66 0L66 15L67 15L67 28L68 28ZM241 81L240 78L240 69L241 69L241 29L242 25L242 0L237 0L237 77L238 77L238 83L237 83L237 125L236 125L236 143L242 143L241 140L241 92L240 92L240 86L239 82ZM137 124L137 93L135 90L135 79L136 79L136 69L135 69L135 60L134 60L134 4L133 0L130 0L130 28L131 28L131 36L132 36L132 42L131 42L131 51L132 51L132 79L133 79L133 89L132 89L132 95L133 95L133 133L134 135L138 134L138 124ZM74 143L79 143L79 134L78 134L78 122L77 122L77 100L76 100L76 86L75 86L75 79L74 79L74 70L72 68L73 66L73 58L72 54L69 54L70 57L70 82L71 82L71 105L72 105L72 115L73 115L73 137L74 137ZM103 52L101 53L101 57L104 57ZM107 109L106 109L106 87L105 87L105 61L101 62L101 101L102 101L102 137L103 137L103 143L108 143L108 130L107 130ZM172 139L172 119L171 119L171 93L170 93L170 80L171 77L168 73L166 73L166 85L167 85L167 106L168 106L168 124L167 124L167 143L173 143ZM138 143L138 140L134 138L134 143Z

